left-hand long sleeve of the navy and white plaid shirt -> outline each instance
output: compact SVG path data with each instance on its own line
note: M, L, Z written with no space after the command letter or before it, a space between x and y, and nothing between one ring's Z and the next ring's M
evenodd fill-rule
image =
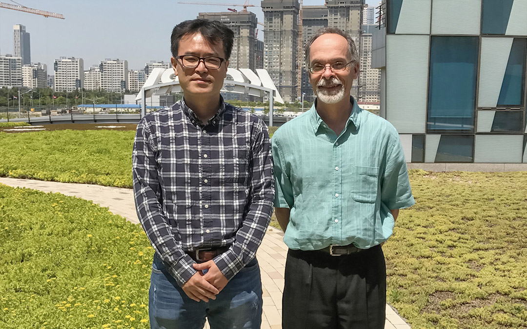
M162 211L156 146L152 135L151 126L143 118L137 127L132 153L135 209L152 247L167 265L170 275L182 286L196 270L192 267L194 261L184 253L173 234L174 228Z

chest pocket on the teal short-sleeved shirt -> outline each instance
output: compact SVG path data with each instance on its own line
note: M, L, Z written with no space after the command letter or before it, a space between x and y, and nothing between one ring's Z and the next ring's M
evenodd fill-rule
M379 167L353 166L350 178L353 200L375 203L378 193Z

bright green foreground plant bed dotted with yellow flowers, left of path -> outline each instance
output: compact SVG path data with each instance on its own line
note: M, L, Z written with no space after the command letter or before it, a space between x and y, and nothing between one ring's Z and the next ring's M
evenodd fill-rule
M0 184L0 328L148 328L153 256L108 208Z

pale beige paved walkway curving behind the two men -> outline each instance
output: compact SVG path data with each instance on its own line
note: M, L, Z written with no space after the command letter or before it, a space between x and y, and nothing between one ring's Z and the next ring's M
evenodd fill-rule
M81 197L103 207L109 207L112 213L126 217L132 223L139 223L135 213L133 193L128 188L18 180L16 178L2 177L0 177L0 183L14 187L27 187L44 192L58 192ZM257 253L264 291L262 329L281 328L282 291L284 289L284 270L287 255L287 247L282 241L282 236L284 236L282 231L270 227ZM385 329L409 328L410 326L389 305L386 305Z

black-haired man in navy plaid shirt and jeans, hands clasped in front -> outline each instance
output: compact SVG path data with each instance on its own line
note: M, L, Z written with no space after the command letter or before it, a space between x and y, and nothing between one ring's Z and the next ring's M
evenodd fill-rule
M195 19L174 27L171 63L183 99L141 119L133 187L155 250L152 328L259 328L256 251L274 198L267 126L223 101L233 32ZM143 100L144 101L144 100Z

